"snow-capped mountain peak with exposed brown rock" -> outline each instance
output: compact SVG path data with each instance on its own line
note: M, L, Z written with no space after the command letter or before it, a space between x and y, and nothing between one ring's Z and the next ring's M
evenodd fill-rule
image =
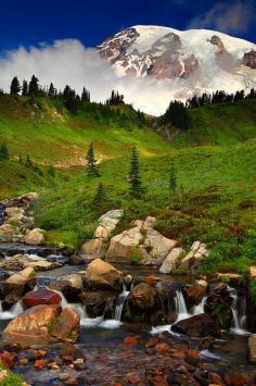
M256 88L256 45L214 30L133 26L98 51L120 77L165 80L172 98Z

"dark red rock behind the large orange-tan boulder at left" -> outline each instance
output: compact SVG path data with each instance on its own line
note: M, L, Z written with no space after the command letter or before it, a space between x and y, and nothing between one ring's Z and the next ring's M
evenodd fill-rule
M56 304L60 306L62 297L53 290L46 287L38 288L35 291L27 292L23 297L23 304L26 308L31 308L39 304Z

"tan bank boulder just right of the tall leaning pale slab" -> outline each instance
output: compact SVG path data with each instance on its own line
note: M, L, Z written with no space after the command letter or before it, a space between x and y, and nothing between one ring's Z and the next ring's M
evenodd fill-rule
M106 253L106 261L130 262L135 258L136 248L142 242L143 235L141 227L136 226L124 231L121 234L111 239L111 245Z

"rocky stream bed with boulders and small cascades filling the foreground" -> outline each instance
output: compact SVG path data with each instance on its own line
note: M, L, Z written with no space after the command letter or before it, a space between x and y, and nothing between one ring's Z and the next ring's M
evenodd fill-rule
M0 360L27 385L256 384L249 278L200 277L206 246L185 254L152 217L111 239L111 262L97 258L119 211L78 256L43 247L34 199L0 206ZM131 246L140 264L128 259ZM191 270L177 276L174 264Z

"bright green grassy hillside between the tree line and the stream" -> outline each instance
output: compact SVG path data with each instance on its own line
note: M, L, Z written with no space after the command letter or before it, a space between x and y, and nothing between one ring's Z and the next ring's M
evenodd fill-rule
M202 264L204 273L246 272L256 263L255 102L191 111L193 128L172 144L128 107L123 107L121 119L113 119L99 114L97 107L73 116L46 100L35 107L23 98L4 97L0 104L0 144L7 141L14 159L0 163L0 197L39 191L37 225L48 231L49 244L77 248L92 237L102 212L123 208L117 232L135 217L156 215L157 228L185 247L195 239L208 242L212 254ZM90 141L101 161L99 178L87 176ZM146 190L142 200L131 199L128 191L132 146L140 151ZM20 153L30 154L39 171L18 163ZM49 173L50 164L56 166L55 176ZM176 195L169 190L171 165ZM97 210L92 199L100 182L106 200Z

